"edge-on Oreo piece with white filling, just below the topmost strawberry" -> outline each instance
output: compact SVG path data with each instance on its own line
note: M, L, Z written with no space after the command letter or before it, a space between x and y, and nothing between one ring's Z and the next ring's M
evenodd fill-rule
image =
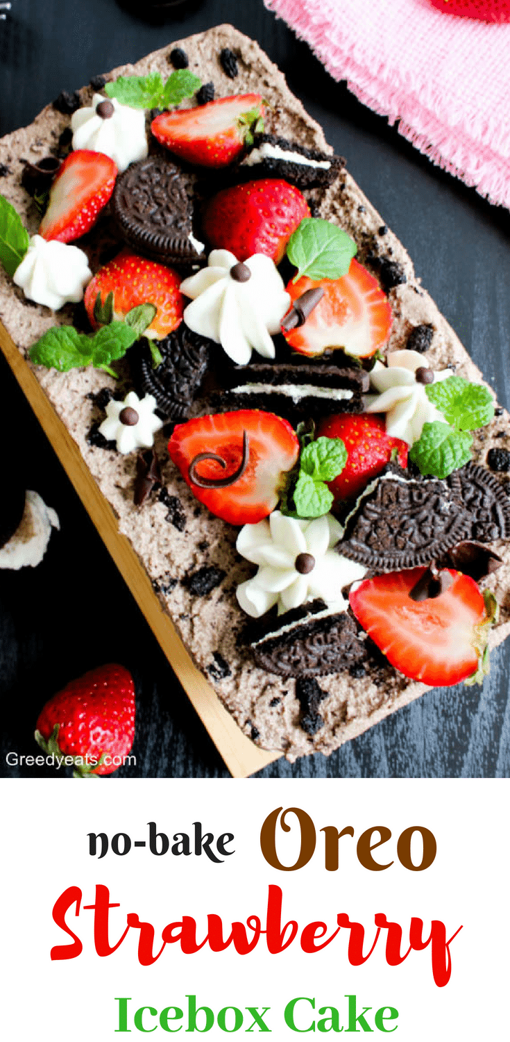
M299 189L328 188L345 166L339 155L305 148L271 133L255 134L253 148L235 168L237 180L281 177Z

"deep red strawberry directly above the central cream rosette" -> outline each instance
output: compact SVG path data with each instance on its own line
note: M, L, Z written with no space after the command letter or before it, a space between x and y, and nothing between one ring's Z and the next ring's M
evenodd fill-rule
M204 212L205 238L238 260L265 253L279 264L290 235L310 216L305 197L294 184L265 177L223 189Z

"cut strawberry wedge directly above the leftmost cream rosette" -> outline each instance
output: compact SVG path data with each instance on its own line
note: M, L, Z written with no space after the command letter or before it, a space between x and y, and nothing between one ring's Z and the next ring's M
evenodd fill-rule
M40 235L57 239L60 243L71 243L84 235L106 206L117 173L113 159L102 152L86 148L71 152L51 185Z

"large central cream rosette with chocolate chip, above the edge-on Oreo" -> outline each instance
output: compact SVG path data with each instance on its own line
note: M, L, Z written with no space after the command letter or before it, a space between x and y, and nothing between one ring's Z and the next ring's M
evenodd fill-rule
M275 357L272 334L280 331L290 297L271 257L254 253L239 264L229 250L212 250L207 267L180 290L193 300L184 309L186 325L221 344L232 362L245 365L252 350Z

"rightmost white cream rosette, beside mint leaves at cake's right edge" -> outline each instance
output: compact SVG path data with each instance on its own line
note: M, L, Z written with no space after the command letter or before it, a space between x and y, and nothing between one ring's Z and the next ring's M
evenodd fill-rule
M376 363L371 372L371 387L377 395L365 397L366 413L386 414L386 432L413 445L422 436L424 423L433 423L444 417L429 401L426 387L453 376L452 369L434 372L418 351L392 351L387 355L387 367ZM428 370L432 378L428 383L416 379L416 370Z

